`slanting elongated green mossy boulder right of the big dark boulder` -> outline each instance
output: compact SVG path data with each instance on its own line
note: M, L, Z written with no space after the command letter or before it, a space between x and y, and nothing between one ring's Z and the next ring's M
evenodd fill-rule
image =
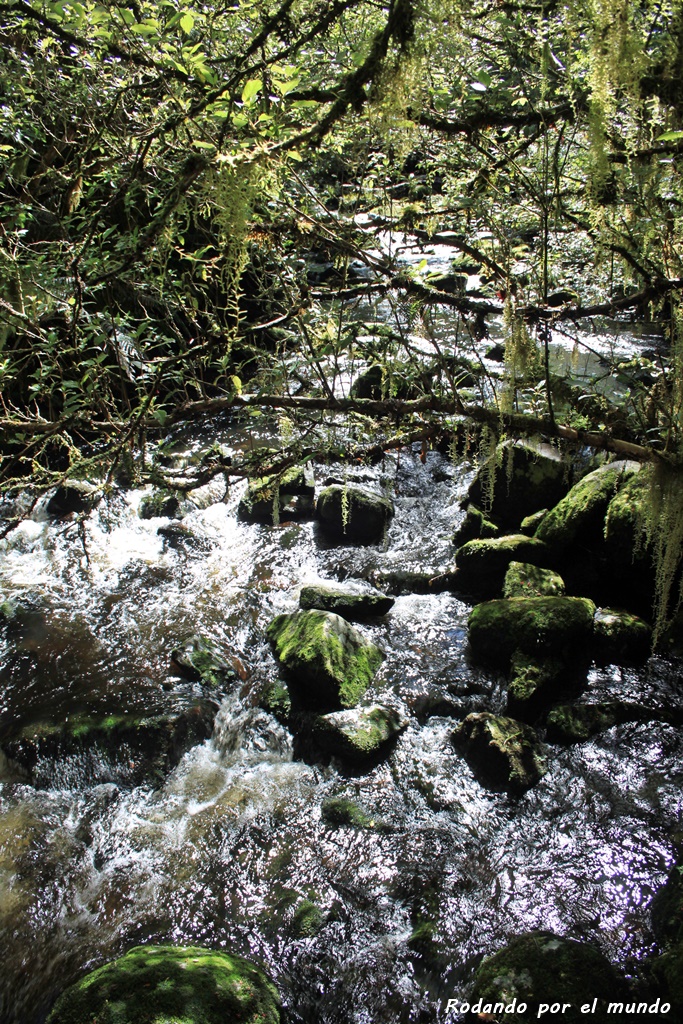
M536 537L555 551L577 543L601 545L609 503L639 468L638 463L620 461L589 473L550 510Z

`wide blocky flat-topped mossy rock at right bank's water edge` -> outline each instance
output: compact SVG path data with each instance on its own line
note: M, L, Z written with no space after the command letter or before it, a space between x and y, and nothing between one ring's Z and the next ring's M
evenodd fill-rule
M594 614L585 597L484 601L469 617L470 647L476 657L499 665L507 665L515 650L571 660L591 643Z

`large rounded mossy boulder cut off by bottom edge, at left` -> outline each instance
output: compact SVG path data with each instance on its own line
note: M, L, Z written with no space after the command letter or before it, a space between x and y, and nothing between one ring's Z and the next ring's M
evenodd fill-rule
M279 1024L280 996L241 956L136 946L63 992L48 1024Z

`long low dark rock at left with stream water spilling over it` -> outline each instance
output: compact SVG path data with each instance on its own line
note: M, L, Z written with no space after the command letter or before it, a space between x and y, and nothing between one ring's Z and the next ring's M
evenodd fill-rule
M83 713L60 724L26 726L2 741L2 751L34 784L40 784L37 772L45 759L56 762L95 751L106 759L95 763L97 778L90 779L91 784L113 779L131 785L158 784L186 751L209 738L216 711L215 703L198 700L182 711L150 717Z

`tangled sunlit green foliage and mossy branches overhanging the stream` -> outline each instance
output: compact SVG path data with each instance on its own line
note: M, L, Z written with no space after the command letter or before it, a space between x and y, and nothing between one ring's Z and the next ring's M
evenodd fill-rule
M270 470L483 423L678 478L677 0L0 8L5 492L144 474L146 441L240 408L286 410ZM391 329L359 318L378 297ZM616 403L552 372L553 332L580 352L596 317L664 340L605 368Z

